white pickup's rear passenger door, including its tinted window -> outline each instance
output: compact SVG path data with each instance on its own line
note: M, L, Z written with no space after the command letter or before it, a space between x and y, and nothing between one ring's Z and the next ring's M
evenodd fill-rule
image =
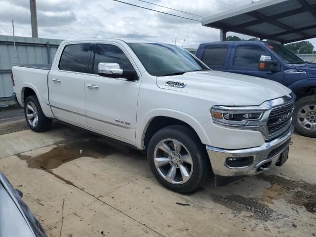
M84 108L85 77L88 72L91 43L66 45L60 61L49 72L49 102L56 118L86 126ZM58 57L58 55L56 55Z

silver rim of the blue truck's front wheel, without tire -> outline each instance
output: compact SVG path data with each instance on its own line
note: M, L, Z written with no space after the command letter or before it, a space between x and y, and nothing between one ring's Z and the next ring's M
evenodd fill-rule
M316 105L303 106L297 114L297 119L303 128L316 131Z

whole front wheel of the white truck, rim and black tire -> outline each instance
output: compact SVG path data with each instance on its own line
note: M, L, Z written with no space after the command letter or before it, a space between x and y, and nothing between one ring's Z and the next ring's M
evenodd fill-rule
M209 170L205 147L197 135L183 125L159 130L149 142L147 157L156 179L179 193L195 191Z

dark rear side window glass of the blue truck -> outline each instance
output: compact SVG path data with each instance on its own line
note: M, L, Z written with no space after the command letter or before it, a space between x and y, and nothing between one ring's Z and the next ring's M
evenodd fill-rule
M228 45L214 45L205 48L202 61L209 67L224 66Z

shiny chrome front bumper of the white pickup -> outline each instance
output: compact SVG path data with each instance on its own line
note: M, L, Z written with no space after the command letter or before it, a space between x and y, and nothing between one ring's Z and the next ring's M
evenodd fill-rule
M290 128L276 139L264 143L260 147L227 150L216 147L206 146L206 151L210 159L214 174L220 176L244 176L256 175L269 169L276 164L280 154L290 145L291 135L294 127ZM230 167L226 163L227 158L253 157L253 162L243 167Z

